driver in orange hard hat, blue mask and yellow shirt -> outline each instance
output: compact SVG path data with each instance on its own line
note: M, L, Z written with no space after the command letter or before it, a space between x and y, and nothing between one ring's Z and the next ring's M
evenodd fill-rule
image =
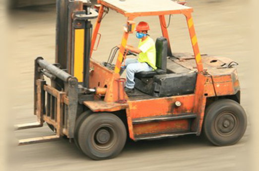
M126 93L134 92L134 74L142 71L156 70L156 48L153 39L147 35L150 30L148 23L141 21L136 26L136 37L139 40L138 47L126 45L126 50L138 54L137 59L126 59L123 70L127 69Z

